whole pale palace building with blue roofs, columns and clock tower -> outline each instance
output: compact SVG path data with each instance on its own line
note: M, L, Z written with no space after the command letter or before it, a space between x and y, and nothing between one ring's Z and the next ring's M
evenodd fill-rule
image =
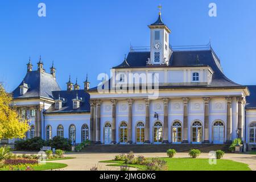
M256 85L229 80L210 44L193 50L171 47L171 30L160 12L148 27L150 48L131 48L111 69L112 77L94 88L88 77L83 88L69 77L67 89L61 90L53 65L47 73L40 58L34 71L29 61L13 91L14 105L30 120L27 138L223 144L238 137L249 150L256 148ZM156 97L150 97L152 90Z

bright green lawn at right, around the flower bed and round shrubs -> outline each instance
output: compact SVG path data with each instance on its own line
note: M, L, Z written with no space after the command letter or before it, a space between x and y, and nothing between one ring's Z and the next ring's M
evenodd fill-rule
M192 158L160 158L167 161L169 171L250 171L248 164L234 162L233 160L217 159L216 165L210 165L209 159ZM113 161L105 161L111 163ZM123 162L109 164L108 166L123 166ZM128 164L129 167L144 168L142 165Z

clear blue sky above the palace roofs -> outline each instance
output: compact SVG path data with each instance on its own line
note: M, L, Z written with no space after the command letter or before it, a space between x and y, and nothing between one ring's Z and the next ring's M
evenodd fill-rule
M46 3L46 17L38 4ZM208 5L217 5L209 17ZM15 89L26 74L31 56L34 69L42 55L49 72L52 60L62 89L71 74L79 84L89 75L109 73L133 46L149 46L148 24L163 6L163 22L172 30L172 46L207 44L220 57L225 75L239 84L256 84L256 1L126 0L126 1L0 1L0 81ZM83 86L82 86L83 87Z

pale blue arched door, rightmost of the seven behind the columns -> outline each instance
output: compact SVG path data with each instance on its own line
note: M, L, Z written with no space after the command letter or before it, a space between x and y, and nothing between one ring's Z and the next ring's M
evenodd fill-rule
M213 143L224 143L224 123L222 121L213 123Z

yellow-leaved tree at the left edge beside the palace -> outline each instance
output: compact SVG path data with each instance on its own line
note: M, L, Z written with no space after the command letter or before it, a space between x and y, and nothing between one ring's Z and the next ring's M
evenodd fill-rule
M27 120L11 106L12 101L13 97L0 83L0 139L24 138L30 129Z

